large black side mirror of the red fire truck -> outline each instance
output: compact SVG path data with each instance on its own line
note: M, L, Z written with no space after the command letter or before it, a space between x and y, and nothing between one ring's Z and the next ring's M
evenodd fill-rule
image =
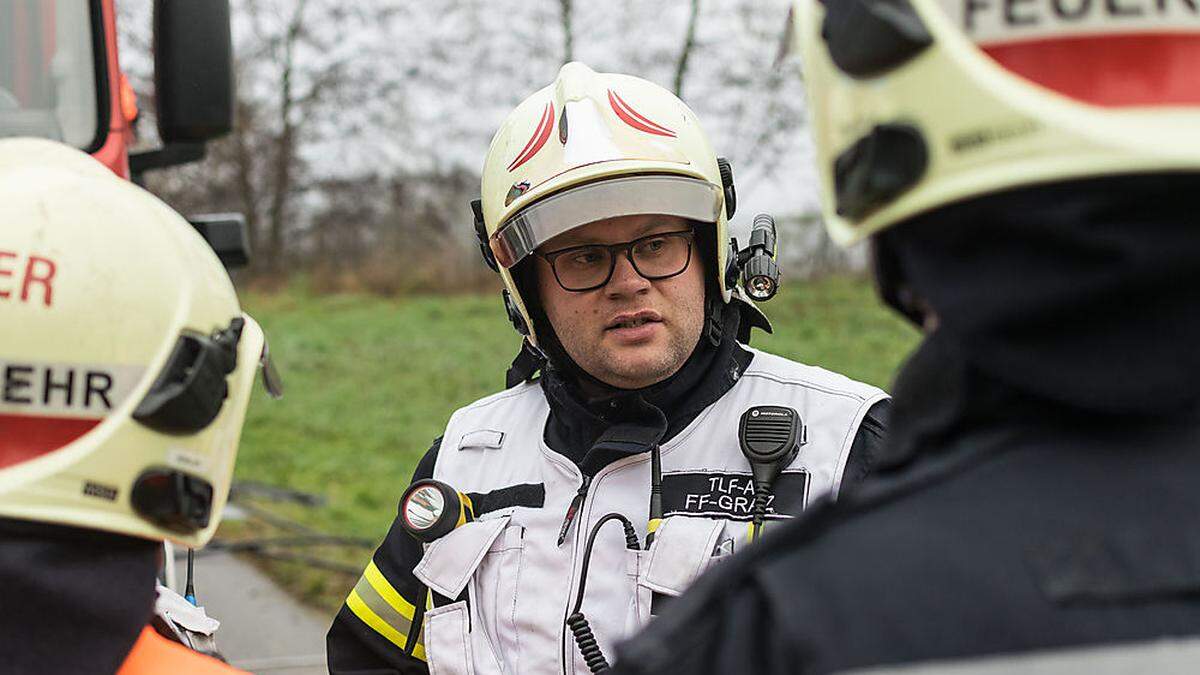
M233 131L229 0L155 0L155 91L166 145Z

